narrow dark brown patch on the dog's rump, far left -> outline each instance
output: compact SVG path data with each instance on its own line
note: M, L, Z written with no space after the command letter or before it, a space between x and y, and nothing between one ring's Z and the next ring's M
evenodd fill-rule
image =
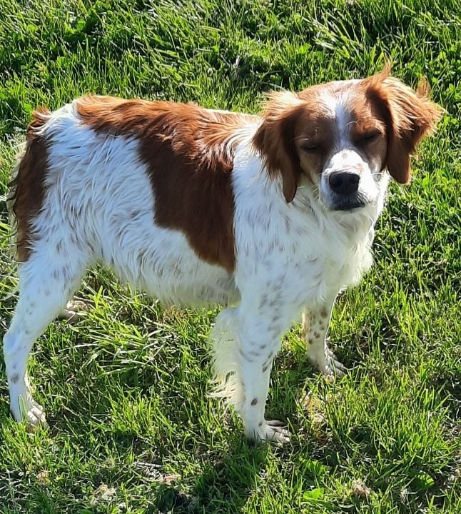
M9 183L9 206L16 219L16 253L20 262L29 258L33 233L31 222L43 205L44 180L48 167L48 141L38 133L49 119L49 111L39 109L27 130L26 151L16 176Z

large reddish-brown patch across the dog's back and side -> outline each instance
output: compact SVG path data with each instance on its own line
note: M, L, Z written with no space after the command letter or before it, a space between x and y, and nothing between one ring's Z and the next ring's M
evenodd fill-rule
M99 133L141 141L155 220L182 231L200 258L235 268L233 133L253 119L195 104L86 97L78 114Z

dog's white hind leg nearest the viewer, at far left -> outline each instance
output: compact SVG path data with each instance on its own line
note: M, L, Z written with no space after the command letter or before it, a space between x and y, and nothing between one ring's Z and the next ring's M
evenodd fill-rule
M16 420L45 422L44 410L31 395L27 361L34 341L62 311L78 286L84 266L77 259L57 259L45 248L19 265L19 301L4 336L10 408Z

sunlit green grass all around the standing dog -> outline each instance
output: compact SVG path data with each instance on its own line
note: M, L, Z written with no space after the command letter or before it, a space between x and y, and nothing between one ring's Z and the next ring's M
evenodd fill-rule
M207 398L216 311L166 309L106 270L30 374L49 430L9 416L0 358L0 513L460 513L461 11L458 0L56 1L0 5L0 194L31 111L99 94L257 111L270 89L427 76L447 114L409 188L392 186L375 267L335 307L350 373L308 365L299 327L268 411L293 442L250 448ZM0 203L0 331L14 262ZM11 296L12 295L12 296Z

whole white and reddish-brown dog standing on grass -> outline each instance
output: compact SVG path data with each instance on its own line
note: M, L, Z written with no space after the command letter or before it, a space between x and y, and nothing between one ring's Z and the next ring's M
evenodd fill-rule
M325 343L338 291L372 263L389 176L441 109L380 74L270 96L260 116L170 101L86 96L39 111L11 185L19 302L4 337L11 411L36 424L26 365L88 266L168 303L218 303L218 393L245 434L288 440L265 420L280 338L303 316L309 360L343 366Z

